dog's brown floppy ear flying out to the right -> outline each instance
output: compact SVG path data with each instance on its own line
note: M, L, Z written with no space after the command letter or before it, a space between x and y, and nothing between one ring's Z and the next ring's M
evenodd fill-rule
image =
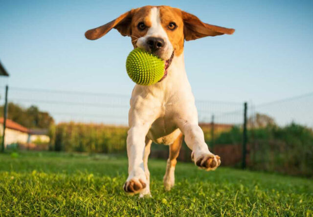
M235 31L233 28L205 24L195 15L189 14L185 11L181 12L182 20L184 22L184 37L186 41L195 40L206 36L217 36L224 34L231 35Z

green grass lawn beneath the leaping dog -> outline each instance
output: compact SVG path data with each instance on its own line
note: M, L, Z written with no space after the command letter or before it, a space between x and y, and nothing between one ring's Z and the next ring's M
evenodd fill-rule
M153 198L122 191L127 159L0 154L0 216L312 216L313 180L178 163L163 190L164 160L150 160Z

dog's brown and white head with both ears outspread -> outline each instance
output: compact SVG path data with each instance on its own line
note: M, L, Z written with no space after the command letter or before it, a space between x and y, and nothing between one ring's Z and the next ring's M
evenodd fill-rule
M144 48L166 61L169 67L174 55L183 51L184 40L232 34L235 30L205 24L196 16L169 6L144 6L132 9L110 23L88 30L86 38L95 40L112 28L130 36L134 48Z

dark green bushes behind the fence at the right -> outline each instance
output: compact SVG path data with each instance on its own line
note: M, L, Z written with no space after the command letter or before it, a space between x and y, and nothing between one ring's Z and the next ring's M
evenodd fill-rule
M242 129L233 127L217 137L215 146L241 144L242 134ZM249 129L247 136L250 169L313 176L312 129L295 123L285 127L268 125Z

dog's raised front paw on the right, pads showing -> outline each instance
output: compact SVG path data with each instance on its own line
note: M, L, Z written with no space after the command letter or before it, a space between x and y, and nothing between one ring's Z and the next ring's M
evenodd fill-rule
M200 154L199 156L195 156L195 153L192 152L191 159L198 167L207 171L215 170L221 165L221 157L212 153Z

